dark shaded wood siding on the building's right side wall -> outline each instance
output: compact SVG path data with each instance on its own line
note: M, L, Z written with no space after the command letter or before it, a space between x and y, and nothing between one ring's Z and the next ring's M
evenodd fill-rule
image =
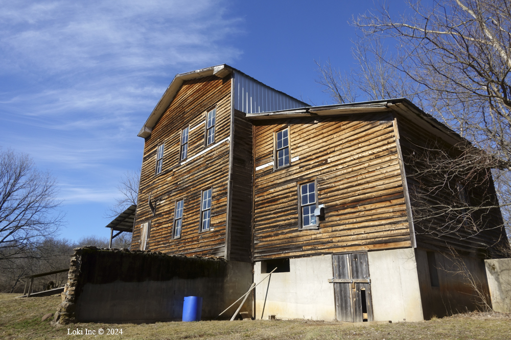
M481 258L501 256L502 250L508 249L509 244L499 208L474 211L472 218L479 224L477 230L471 223L467 225L459 221L453 223L453 219L456 218L455 209L459 208L455 205L456 180L464 180L464 178L449 175L448 178L444 178L444 181L439 182L432 180L429 175L420 177L414 175L417 169L422 169L421 162L417 163L417 161L421 160L423 154L427 152L434 154L435 149L443 149L455 157L457 154L453 153L455 152L453 146L428 133L406 117L398 115L397 121L408 191L413 207L417 247L448 254L454 250L462 255ZM470 205L497 205L491 172L481 170L473 179L466 184ZM426 206L428 208L425 208ZM449 211L448 207L454 209Z

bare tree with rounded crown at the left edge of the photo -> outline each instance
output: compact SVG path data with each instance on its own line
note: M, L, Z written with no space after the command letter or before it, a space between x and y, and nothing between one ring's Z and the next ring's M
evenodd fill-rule
M0 262L37 256L62 225L57 185L27 154L0 149Z

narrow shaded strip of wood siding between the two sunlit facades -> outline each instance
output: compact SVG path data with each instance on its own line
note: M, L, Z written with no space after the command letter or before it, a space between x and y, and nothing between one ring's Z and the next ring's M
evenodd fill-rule
M234 112L231 158L230 260L250 262L252 249L252 123L241 111Z

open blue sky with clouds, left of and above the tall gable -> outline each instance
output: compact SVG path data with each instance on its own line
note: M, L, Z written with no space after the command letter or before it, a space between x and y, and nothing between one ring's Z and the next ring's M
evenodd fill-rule
M142 162L138 130L176 73L225 63L327 103L313 60L349 69L348 21L375 7L366 0L0 6L0 146L30 154L57 178L67 221L60 236L70 240L109 235L104 216L119 179Z

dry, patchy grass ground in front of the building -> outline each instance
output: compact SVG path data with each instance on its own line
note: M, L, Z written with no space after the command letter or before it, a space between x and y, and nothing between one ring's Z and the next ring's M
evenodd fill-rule
M154 324L80 323L53 326L42 316L55 312L60 297L15 299L16 294L0 294L0 339L511 339L511 315L470 313L419 323L350 324L292 321L202 321L158 322ZM69 329L69 330L68 330ZM79 329L96 335L67 335ZM98 335L103 329L105 334ZM122 329L109 335L107 329Z

